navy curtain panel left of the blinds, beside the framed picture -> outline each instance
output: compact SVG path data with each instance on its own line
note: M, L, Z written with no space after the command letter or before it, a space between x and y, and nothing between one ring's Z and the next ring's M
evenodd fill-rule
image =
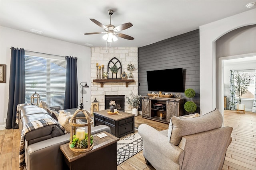
M25 103L25 51L11 49L9 103L6 117L6 129L18 129L15 123L18 104Z

